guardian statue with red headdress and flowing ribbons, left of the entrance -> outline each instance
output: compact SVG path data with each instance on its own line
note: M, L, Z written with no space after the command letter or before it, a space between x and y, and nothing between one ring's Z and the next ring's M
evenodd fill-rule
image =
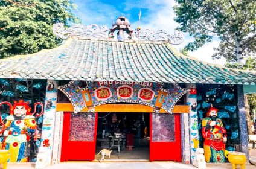
M4 123L1 118L2 130L4 139L2 141L2 147L0 149L7 149L10 152L10 162L27 162L28 156L31 156L31 152L37 153L36 144L34 139L38 138L36 135L36 117L41 116L43 112L43 104L35 103L34 112L31 113L31 108L24 100L19 102L14 101L12 106L9 102L2 102L2 104L8 104L10 107L10 115L5 118ZM41 112L36 116L36 106L41 106Z

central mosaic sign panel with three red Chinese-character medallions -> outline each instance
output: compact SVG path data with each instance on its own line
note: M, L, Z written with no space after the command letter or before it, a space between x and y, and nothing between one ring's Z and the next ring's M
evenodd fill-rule
M154 107L160 83L122 83L118 81L94 81L88 83L92 103L95 106L114 102L146 104Z

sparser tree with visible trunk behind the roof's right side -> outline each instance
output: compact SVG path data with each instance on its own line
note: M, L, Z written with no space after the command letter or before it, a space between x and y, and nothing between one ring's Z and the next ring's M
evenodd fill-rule
M242 63L245 56L256 52L255 0L176 0L175 21L179 30L190 33L194 42L185 49L196 50L213 37L220 45L213 58Z

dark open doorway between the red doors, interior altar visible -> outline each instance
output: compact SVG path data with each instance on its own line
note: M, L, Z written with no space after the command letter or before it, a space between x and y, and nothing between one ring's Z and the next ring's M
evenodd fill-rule
M99 112L95 159L105 148L112 150L110 160L149 160L149 130L149 113Z

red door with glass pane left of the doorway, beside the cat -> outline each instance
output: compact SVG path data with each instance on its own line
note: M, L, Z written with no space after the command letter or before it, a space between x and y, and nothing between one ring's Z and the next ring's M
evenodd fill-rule
M94 160L98 113L64 112L60 161Z

